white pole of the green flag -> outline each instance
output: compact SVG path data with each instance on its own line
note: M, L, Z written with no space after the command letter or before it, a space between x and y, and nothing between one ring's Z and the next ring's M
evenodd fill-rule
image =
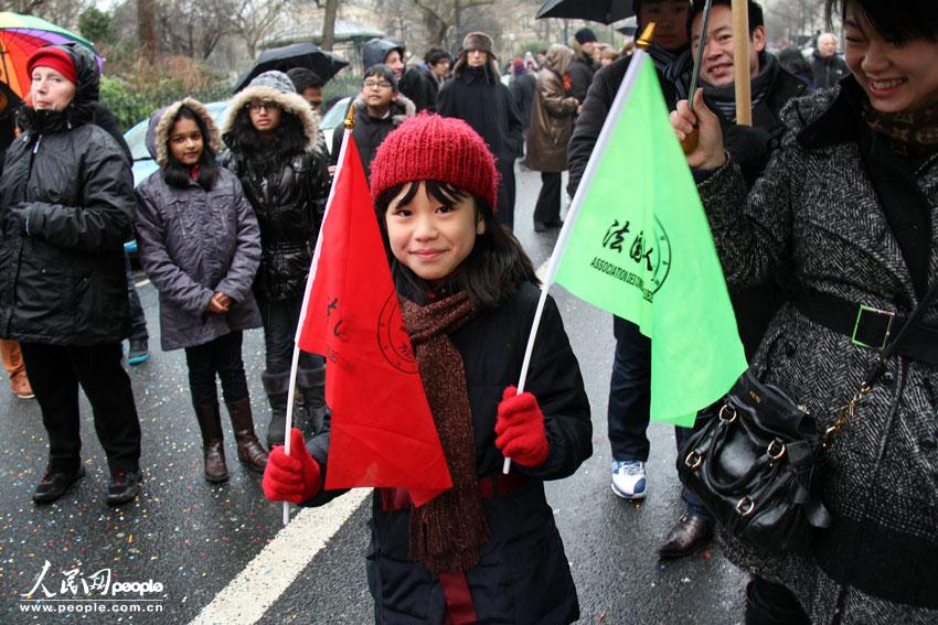
M637 43L637 49L632 54L632 60L629 63L629 68L626 72L622 84L619 85L619 90L616 93L616 98L612 100L612 106L609 107L609 114L606 116L606 121L603 123L603 130L599 131L599 137L596 139L596 146L593 148L593 153L589 155L589 161L586 163L586 169L583 172L583 177L579 181L579 186L571 202L567 218L564 222L561 234L557 236L557 243L554 245L554 251L551 254L551 261L547 263L547 276L544 278L544 284L541 287L541 299L537 300L537 309L534 312L534 321L531 323L531 334L527 335L527 347L524 349L524 360L521 364L521 375L518 381L518 394L524 392L524 382L527 378L527 368L531 365L531 354L534 352L534 337L537 335L537 327L541 325L541 315L544 312L544 304L547 302L547 292L554 284L554 279L557 274L557 267L564 256L567 244L569 243L571 233L579 217L579 211L583 206L583 201L586 196L586 191L593 184L593 179L596 177L596 170L599 168L599 161L603 160L603 154L609 144L612 136L612 129L619 121L619 117L625 108L626 100L632 91L632 87L638 79L639 72L646 62L651 37L654 33L654 23L650 23L642 32ZM505 457L502 465L502 473L508 474L511 470L511 459Z

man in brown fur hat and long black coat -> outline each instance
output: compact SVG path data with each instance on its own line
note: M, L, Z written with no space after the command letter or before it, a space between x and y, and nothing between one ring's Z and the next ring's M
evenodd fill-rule
M511 90L499 80L492 37L473 32L462 40L452 68L454 78L443 86L437 109L458 117L478 132L498 161L498 218L514 227L514 160L522 151L522 123Z

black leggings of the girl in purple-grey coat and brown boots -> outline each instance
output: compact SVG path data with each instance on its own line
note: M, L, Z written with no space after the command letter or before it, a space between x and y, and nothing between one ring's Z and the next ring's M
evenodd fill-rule
M215 376L222 380L225 401L231 403L246 398L247 379L244 376L244 360L241 358L241 331L185 348L185 364L189 365L189 390L192 405L215 406L218 403L218 389Z

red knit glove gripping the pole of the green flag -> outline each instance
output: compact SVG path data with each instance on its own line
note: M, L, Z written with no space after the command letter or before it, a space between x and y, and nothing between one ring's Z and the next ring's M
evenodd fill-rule
M544 430L544 413L530 392L518 395L510 386L502 394L495 421L495 446L521 466L539 466L547 460L550 444Z

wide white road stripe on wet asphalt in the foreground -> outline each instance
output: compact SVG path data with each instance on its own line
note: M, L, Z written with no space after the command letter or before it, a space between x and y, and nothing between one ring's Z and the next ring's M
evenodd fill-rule
M320 508L300 510L190 625L259 621L371 493L354 488Z

